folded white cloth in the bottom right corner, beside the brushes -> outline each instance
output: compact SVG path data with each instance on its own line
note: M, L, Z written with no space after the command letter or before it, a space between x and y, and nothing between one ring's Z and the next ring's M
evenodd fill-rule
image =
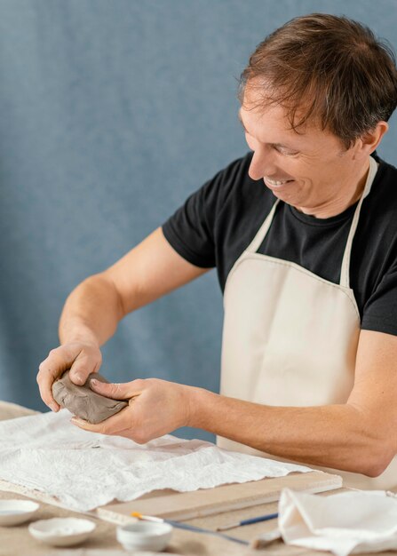
M397 499L385 490L314 496L283 488L279 529L286 544L351 552L397 549Z

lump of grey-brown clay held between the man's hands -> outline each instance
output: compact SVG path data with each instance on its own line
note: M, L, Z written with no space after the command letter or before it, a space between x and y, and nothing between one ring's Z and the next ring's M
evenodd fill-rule
M52 385L52 395L55 401L58 401L60 407L67 408L76 417L81 417L89 423L100 423L128 406L127 401L113 400L93 392L90 388L91 378L108 382L98 373L91 373L85 384L78 386L70 380L67 370Z

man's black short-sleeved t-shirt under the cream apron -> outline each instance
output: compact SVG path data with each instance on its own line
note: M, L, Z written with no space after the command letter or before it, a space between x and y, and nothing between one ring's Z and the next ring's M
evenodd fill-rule
M222 290L276 200L262 179L250 179L251 157L250 152L219 171L163 225L165 238L179 255L195 266L217 267ZM350 287L361 329L397 336L397 169L375 158L377 175L353 239ZM339 283L356 206L331 218L315 218L281 202L258 252Z

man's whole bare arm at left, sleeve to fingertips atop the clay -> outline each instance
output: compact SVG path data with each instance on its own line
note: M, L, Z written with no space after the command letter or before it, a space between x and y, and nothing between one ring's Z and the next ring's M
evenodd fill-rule
M37 383L44 402L59 409L52 383L66 370L83 384L99 369L99 346L113 336L126 314L204 274L171 248L158 228L115 265L79 284L67 298L60 317L60 347L41 363Z

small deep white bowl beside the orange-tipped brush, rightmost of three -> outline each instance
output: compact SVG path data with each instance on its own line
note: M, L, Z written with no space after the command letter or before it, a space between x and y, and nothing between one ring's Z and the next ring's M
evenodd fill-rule
M169 544L172 527L169 523L138 521L117 528L116 537L126 550L159 552Z

